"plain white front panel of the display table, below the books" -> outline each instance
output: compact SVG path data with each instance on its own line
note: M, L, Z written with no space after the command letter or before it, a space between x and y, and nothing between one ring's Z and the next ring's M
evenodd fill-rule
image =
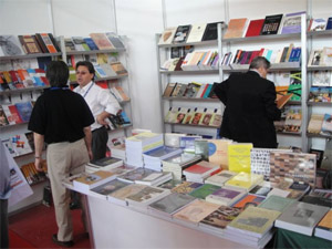
M87 196L94 248L249 248L197 226L177 224Z

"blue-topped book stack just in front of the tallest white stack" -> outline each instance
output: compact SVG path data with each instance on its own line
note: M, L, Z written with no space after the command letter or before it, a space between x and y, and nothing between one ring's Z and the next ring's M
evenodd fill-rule
M162 146L143 154L143 160L146 168L162 172L162 160L181 154L183 149Z

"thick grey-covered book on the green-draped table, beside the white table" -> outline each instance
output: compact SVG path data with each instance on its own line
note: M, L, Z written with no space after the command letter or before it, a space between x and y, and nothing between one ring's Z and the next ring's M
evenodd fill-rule
M313 229L329 210L328 207L295 201L279 216L274 226L312 236Z

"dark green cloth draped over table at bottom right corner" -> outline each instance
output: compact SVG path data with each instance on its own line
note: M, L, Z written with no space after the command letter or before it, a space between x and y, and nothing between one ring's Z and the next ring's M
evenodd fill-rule
M305 236L294 231L277 229L274 248L332 248L332 241Z

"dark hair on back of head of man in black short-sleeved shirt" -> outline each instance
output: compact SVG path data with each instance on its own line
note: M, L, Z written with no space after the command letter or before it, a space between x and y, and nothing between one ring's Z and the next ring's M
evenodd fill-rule
M63 61L52 61L46 69L46 77L51 86L66 86L69 79L69 69Z

